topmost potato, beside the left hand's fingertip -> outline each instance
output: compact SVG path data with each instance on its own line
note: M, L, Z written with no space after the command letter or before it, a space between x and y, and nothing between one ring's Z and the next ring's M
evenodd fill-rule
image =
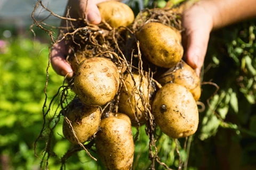
M121 2L106 1L98 5L102 21L107 22L110 27L127 27L134 20L132 9Z

